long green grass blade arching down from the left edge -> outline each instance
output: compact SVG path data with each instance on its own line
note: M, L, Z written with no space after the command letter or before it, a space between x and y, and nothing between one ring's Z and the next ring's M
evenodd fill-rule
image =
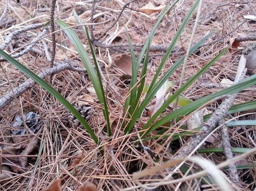
M53 95L59 102L61 102L80 122L81 124L86 128L88 133L93 138L94 142L98 145L99 141L94 134L91 127L88 125L88 123L85 121L85 119L81 116L81 114L69 103L61 94L56 91L52 86L50 86L46 81L44 81L42 78L34 74L33 71L29 70L27 67L20 64L17 60L9 56L5 51L0 50L0 55L6 59L9 63L13 64L16 68L18 68L20 71L22 71L25 75L29 76L31 79L33 79L36 83L38 83L41 87L46 89L51 95Z

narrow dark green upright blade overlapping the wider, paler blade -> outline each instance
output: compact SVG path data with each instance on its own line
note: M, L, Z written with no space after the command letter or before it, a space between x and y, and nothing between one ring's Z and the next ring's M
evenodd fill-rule
M93 59L94 59L94 65L95 65L95 68L96 68L96 71L97 71L98 80L99 80L100 84L102 84L100 69L99 69L99 66L97 64L97 59L96 59L96 56L95 56L95 53L94 53L93 45L91 43L90 36L89 36L89 33L88 33L88 29L87 29L86 26L85 26L85 31L86 31L86 36L87 36L88 43L89 43L89 46L90 46L90 50L92 52L92 56L93 56ZM111 127L110 127L110 122L109 122L109 112L108 112L107 99L106 99L106 96L104 96L103 85L101 85L100 88L101 88L100 93L102 95L103 106L104 106L104 109L102 109L102 112L103 112L103 115L104 115L105 120L107 122L108 137L110 137L112 135L112 133L111 133Z

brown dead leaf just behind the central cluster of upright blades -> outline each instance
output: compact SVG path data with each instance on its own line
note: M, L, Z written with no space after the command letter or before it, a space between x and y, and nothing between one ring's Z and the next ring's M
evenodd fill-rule
M118 60L114 60L113 68L117 74L132 75L132 58L123 54Z

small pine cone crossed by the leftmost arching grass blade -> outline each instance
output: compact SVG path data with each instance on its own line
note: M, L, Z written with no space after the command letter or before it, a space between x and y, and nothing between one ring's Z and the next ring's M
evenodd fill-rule
M85 119L85 121L89 121L91 118L91 106L84 106L84 105L78 105L78 103L75 104L76 110L82 115L82 117ZM68 123L71 127L80 127L81 123L76 119L76 117L73 114L69 114L68 116Z

